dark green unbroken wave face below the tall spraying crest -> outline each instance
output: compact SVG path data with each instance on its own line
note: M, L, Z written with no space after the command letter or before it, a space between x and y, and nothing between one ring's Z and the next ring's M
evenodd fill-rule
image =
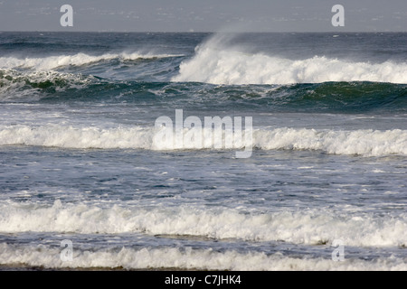
M24 95L24 98L19 96ZM33 98L30 100L30 97ZM157 103L269 112L357 113L407 111L407 85L323 82L216 86L194 82L123 81L63 73L0 71L0 101Z

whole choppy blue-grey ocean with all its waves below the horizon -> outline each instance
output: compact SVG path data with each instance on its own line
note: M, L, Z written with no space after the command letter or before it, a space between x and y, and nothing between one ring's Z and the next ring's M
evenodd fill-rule
M405 271L407 33L0 33L0 163L3 270Z

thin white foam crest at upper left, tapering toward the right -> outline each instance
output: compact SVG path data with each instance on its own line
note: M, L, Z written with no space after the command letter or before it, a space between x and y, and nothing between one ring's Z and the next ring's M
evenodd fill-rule
M139 59L154 59L154 58L167 58L179 55L173 54L154 54L154 53L141 53L141 52L119 52L119 53L105 53L102 55L90 55L86 53L77 53L72 55L57 55L46 57L14 57L4 56L0 57L0 69L33 69L37 71L42 70L55 70L64 66L80 66L98 61L135 61Z

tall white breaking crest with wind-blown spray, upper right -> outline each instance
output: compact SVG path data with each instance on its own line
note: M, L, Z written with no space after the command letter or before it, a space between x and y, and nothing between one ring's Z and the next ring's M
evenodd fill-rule
M222 42L222 37L199 46L194 57L180 65L173 81L213 84L291 84L325 81L407 83L407 62L351 62L315 56L289 60L265 53L247 53Z

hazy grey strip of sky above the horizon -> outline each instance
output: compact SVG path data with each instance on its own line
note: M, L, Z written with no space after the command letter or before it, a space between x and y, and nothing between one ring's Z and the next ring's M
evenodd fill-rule
M73 26L62 26L71 5ZM344 6L344 26L331 11ZM0 31L407 32L406 0L0 0Z

